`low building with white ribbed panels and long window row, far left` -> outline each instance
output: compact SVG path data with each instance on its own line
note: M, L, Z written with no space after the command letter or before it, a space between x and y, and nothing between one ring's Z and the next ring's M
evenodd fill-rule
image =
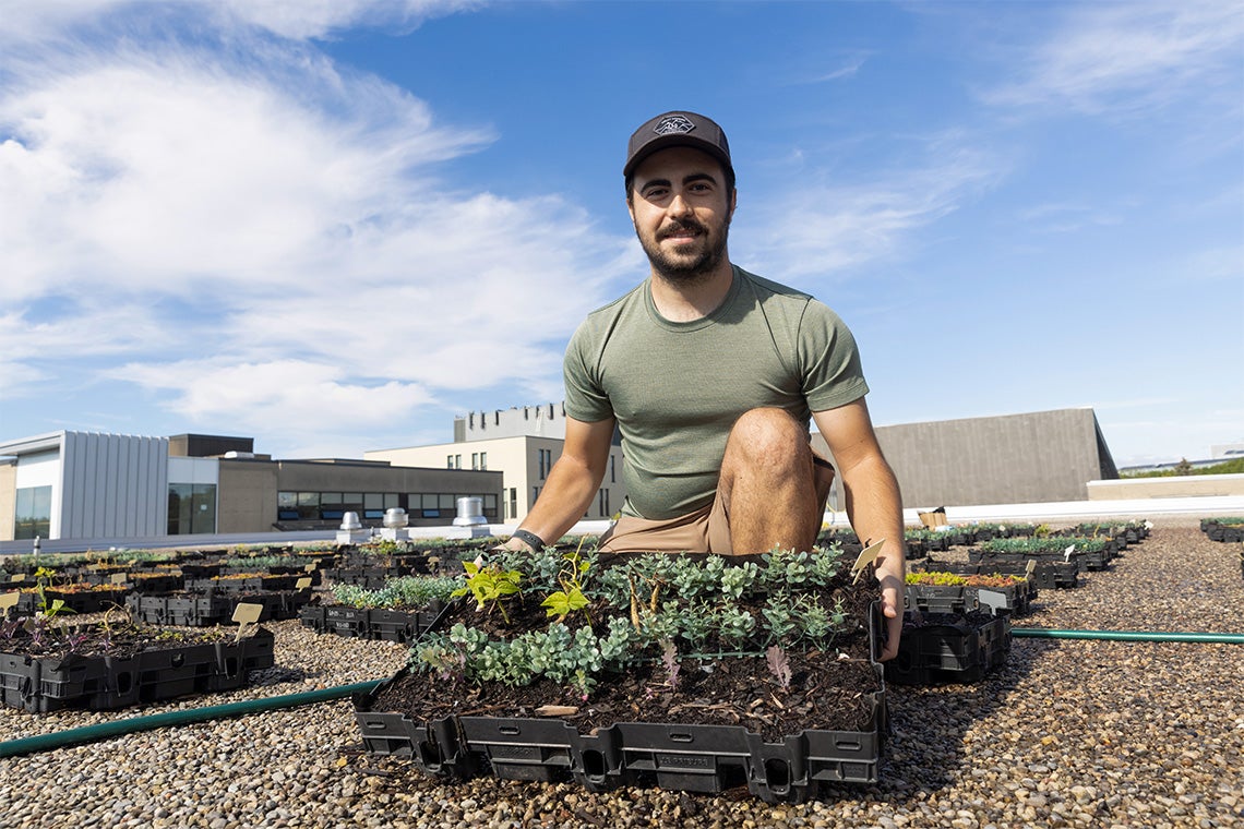
M249 437L78 431L0 444L0 541L320 529L346 512L378 527L392 507L412 526L443 526L468 496L498 521L500 472L274 461L251 447Z

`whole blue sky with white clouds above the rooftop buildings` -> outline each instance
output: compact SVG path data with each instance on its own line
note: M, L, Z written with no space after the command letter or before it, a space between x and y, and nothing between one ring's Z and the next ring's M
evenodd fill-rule
M0 439L277 457L560 400L643 278L629 133L726 131L731 259L851 326L878 425L1092 406L1244 441L1232 2L0 0Z

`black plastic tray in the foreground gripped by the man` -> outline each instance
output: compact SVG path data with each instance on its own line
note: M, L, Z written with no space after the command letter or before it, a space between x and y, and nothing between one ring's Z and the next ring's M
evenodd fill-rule
M575 781L591 792L657 785L714 793L746 785L769 803L800 803L821 783L876 783L886 735L884 690L872 695L868 730L806 730L780 742L740 726L621 722L581 735L557 718L420 722L369 710L377 692L355 702L363 744L374 754L409 758L428 774L459 781L486 774Z

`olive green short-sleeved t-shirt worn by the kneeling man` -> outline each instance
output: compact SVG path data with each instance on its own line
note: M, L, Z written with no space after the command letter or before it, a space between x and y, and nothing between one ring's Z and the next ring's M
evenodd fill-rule
M722 305L680 323L658 313L649 282L588 314L564 363L566 414L617 419L623 515L712 503L725 440L749 409L781 406L807 429L812 411L868 393L851 332L806 293L735 266Z

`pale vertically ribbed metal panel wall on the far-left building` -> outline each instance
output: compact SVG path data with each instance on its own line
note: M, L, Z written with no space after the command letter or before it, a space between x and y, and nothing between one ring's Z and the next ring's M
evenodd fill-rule
M168 439L65 433L61 538L168 532Z

